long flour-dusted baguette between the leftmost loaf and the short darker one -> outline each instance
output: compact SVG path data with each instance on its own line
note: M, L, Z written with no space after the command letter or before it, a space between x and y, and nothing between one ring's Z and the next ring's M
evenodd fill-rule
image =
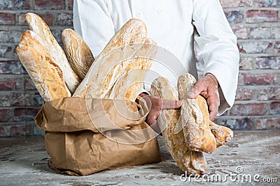
M52 60L55 61L62 70L66 86L69 88L69 91L73 93L78 87L78 84L80 84L80 79L76 73L73 72L62 47L60 47L57 40L55 40L55 37L52 36L50 28L41 17L34 13L27 13L25 15L25 20L31 31L37 33L41 38L42 45L50 52Z

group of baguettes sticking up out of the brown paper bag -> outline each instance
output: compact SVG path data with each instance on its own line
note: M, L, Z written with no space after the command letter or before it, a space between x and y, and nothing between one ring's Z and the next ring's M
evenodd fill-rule
M62 31L65 54L41 17L27 13L25 20L30 30L22 34L17 54L45 101L71 96L134 101L158 51L141 20L129 20L97 59L75 31Z

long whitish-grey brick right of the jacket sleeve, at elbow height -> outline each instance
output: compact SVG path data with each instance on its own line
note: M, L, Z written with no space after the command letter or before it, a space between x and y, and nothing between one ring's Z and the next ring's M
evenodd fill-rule
M244 54L260 54L266 53L272 47L272 42L259 41L259 42L239 42L239 52Z

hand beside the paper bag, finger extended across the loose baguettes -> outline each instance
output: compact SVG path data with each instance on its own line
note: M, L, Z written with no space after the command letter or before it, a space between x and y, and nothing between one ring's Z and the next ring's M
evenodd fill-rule
M149 113L146 117L146 123L150 126L156 124L162 109L179 109L183 104L181 100L162 100L155 95L146 95L145 93L139 95L147 102ZM156 132L158 131L156 130Z

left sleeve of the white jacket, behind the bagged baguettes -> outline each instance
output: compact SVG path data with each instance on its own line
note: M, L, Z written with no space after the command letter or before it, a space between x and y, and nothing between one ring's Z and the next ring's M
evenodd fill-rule
M73 1L73 28L85 40L96 58L115 34L106 1Z

